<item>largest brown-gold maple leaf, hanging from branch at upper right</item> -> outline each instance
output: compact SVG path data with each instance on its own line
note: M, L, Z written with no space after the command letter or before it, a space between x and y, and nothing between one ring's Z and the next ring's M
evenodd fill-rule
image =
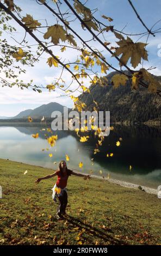
M131 58L131 64L133 68L136 68L139 63L141 63L141 58L144 60L147 59L147 51L145 50L144 42L133 42L131 38L127 36L127 39L121 39L117 42L118 47L116 51L113 53L114 56L120 56L122 54L120 60L120 66L123 64L127 64L129 58Z

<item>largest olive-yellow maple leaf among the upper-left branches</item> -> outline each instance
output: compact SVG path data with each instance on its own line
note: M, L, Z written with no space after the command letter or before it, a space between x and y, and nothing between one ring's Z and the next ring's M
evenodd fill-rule
M59 44L59 40L65 42L66 39L66 31L63 26L53 25L47 29L47 32L44 34L44 39L52 38L52 42L57 45Z

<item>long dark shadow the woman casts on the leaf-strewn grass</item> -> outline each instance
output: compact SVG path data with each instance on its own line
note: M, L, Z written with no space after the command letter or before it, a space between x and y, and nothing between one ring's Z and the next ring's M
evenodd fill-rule
M81 229L84 228L86 234L89 234L89 235L92 234L95 237L103 239L105 242L108 242L108 243L110 242L111 245L128 245L127 242L121 239L120 240L115 239L115 237L113 237L112 235L109 235L103 232L102 230L96 227L93 227L90 224L84 223L79 218L69 216L69 215L65 215L63 218L64 220L69 221L72 225L75 225L76 227L79 227ZM109 230L108 232L112 232L112 230Z

